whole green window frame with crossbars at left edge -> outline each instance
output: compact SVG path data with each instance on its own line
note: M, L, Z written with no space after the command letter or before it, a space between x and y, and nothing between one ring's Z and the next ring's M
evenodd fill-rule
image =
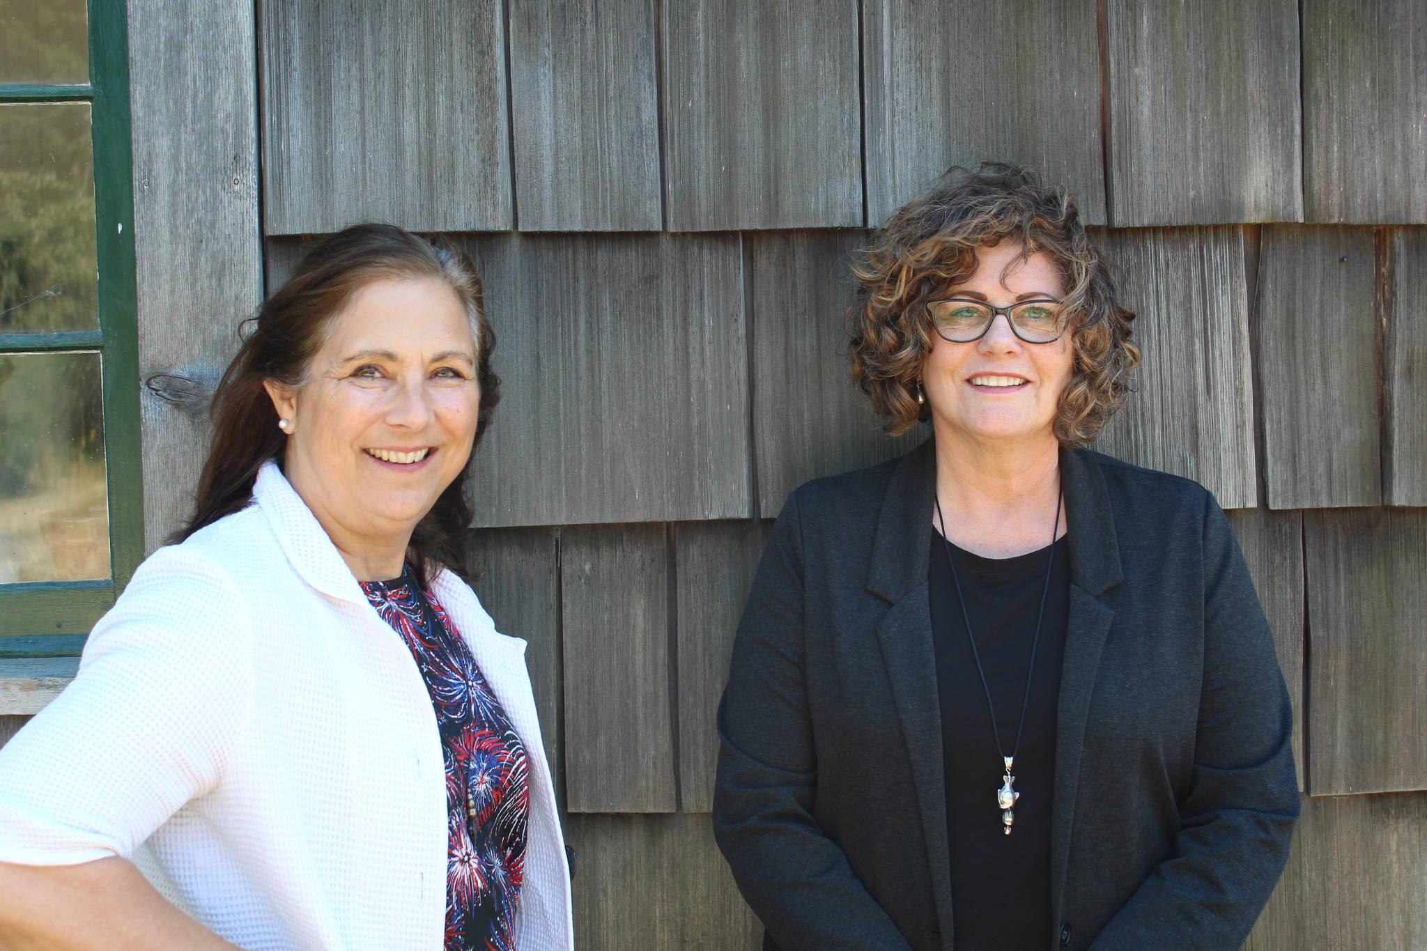
M98 329L0 334L0 355L98 354L110 577L0 585L0 657L77 654L84 636L114 603L144 557L128 21L124 0L88 0L87 16L88 84L0 84L0 104L90 104Z

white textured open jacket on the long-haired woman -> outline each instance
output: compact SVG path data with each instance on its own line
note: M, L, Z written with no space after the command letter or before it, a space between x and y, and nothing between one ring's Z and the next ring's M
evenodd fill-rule
M74 682L0 749L0 861L130 857L254 951L438 951L447 794L421 673L274 463L253 496L154 552ZM529 757L518 948L567 951L525 642L451 573L432 589Z

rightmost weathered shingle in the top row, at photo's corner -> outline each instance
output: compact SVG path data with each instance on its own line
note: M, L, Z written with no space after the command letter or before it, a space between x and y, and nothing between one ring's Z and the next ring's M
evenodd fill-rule
M1427 222L1427 6L1304 0L1309 221Z

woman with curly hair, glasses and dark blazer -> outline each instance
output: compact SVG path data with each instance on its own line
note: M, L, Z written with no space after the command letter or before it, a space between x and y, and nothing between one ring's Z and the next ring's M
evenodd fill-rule
M855 269L900 433L798 489L719 710L714 827L765 948L1237 948L1299 811L1291 714L1199 485L1086 448L1134 314L1065 190L953 170Z

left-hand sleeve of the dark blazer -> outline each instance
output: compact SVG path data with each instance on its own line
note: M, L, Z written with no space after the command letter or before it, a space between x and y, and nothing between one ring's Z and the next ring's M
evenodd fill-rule
M798 495L783 508L733 640L719 704L714 836L781 951L910 945L813 817Z

